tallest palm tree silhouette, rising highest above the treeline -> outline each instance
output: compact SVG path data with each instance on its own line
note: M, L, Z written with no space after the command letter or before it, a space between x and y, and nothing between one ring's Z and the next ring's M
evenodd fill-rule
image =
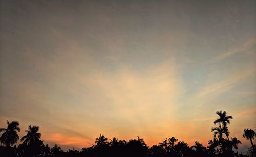
M224 131L226 132L226 136L227 136L227 139L229 141L229 131L228 131L228 128L227 128L227 124L230 124L230 119L233 119L232 116L227 116L227 113L226 111L217 111L216 112L217 115L219 115L220 117L214 121L214 125L216 123L218 123L220 126L223 127Z

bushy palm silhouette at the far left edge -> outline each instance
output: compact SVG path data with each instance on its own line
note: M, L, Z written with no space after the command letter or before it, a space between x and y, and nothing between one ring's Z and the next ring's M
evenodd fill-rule
M10 147L10 145L18 142L19 137L17 131L20 132L20 128L18 127L19 123L17 121L9 123L7 120L7 125L7 128L0 128L0 132L4 132L0 137L0 144Z

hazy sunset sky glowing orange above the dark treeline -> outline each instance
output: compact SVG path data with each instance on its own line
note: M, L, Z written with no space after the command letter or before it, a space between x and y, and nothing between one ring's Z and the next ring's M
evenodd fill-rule
M250 146L256 128L255 1L1 1L0 128L45 143L99 134L212 139L216 111ZM255 143L256 141L254 141Z

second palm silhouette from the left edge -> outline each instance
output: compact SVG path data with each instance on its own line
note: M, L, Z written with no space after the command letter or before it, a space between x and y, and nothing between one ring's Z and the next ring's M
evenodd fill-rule
M39 126L31 126L29 125L29 130L26 130L27 133L24 137L20 139L20 141L23 141L23 144L33 144L35 141L39 140L41 138L41 133L38 133Z

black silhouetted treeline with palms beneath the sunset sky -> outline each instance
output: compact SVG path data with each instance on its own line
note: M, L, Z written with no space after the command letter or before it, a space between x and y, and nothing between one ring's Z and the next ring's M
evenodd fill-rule
M253 156L255 157L255 145L252 140L256 137L256 133L252 129L245 129L242 135L243 138L250 140L251 147L248 148L248 154L243 155L238 153L238 144L241 141L237 138L229 138L229 130L227 125L230 124L232 116L227 116L225 111L218 111L216 113L219 118L214 121L218 127L212 127L214 138L208 141L209 146L204 147L200 142L195 141L195 145L189 147L184 141L178 139L166 138L157 145L152 147L147 146L142 138L131 139L129 141L118 140L113 137L108 140L104 135L95 139L95 145L88 148L78 150L63 151L57 145L52 148L44 144L40 140L41 134L39 126L29 125L26 130L26 135L20 141L21 144L16 147L19 140L17 132L20 132L19 123L7 121L7 128L1 128L3 132L0 137L0 156L26 156L26 157L48 157L48 156L175 156L175 157L189 157L189 156ZM14 146L13 146L14 145ZM233 150L234 149L234 150Z

